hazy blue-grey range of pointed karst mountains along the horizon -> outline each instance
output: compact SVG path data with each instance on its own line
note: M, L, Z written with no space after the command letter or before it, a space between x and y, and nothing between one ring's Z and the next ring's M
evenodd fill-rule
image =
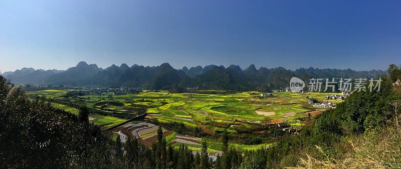
M56 84L73 86L106 86L106 87L137 87L145 86L152 89L169 89L173 84L179 87L198 87L198 89L223 90L260 90L269 91L286 87L293 76L308 80L309 78L376 78L386 74L382 70L355 71L351 69L319 69L299 68L296 70L284 67L257 69L254 64L242 69L238 65L214 64L205 67L182 67L174 69L169 63L159 66L143 66L134 64L128 66L123 63L107 68L100 68L96 64L87 64L84 61L67 70L43 70L22 68L14 72L4 72L3 76L18 84Z

